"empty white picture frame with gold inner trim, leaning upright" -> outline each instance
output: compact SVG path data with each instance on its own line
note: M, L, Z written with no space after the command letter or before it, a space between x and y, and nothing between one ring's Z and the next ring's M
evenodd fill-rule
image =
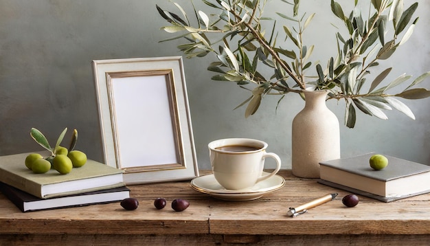
M181 56L92 65L104 163L127 185L198 177Z

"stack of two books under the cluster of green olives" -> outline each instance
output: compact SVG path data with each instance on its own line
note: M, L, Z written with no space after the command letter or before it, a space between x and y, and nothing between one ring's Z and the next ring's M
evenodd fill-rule
M35 174L25 166L28 154L0 157L0 191L22 212L110 203L130 195L124 170L88 159L67 175L56 170Z

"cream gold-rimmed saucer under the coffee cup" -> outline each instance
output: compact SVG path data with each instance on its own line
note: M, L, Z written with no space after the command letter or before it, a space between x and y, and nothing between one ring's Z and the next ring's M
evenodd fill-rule
M263 175L269 175L269 172L263 172ZM226 190L216 181L214 175L196 177L191 181L191 187L194 190L227 201L250 201L259 199L264 194L279 190L284 185L285 179L279 175L274 175L244 190Z

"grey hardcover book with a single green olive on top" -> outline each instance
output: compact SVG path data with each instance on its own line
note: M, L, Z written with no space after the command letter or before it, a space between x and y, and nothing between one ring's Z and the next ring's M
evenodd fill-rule
M388 166L374 170L374 154L322 161L319 183L385 202L430 192L430 166L385 155Z

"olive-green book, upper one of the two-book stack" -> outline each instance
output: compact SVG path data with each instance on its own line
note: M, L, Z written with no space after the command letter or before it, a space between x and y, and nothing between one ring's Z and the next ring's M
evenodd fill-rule
M124 170L91 159L67 175L56 170L35 174L25 166L28 154L1 156L0 181L43 199L125 186ZM47 153L41 155L46 156Z

